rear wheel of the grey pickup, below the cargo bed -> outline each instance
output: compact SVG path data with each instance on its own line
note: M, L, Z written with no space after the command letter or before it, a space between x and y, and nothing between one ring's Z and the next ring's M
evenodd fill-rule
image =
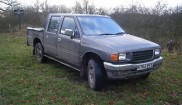
M44 50L43 47L40 43L37 43L35 45L35 58L37 60L37 62L39 63L43 63L46 61L46 57L44 57Z

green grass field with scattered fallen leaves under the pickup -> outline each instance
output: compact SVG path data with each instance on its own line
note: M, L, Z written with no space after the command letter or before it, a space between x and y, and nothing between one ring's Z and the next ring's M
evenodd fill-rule
M54 61L35 61L25 37L0 35L0 105L182 104L182 55L163 53L148 80L110 81L91 90L79 72Z

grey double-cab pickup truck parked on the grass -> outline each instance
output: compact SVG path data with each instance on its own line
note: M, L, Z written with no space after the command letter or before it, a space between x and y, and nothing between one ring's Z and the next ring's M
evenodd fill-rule
M27 45L40 63L49 58L78 70L93 90L108 79L147 79L163 61L158 44L102 15L49 14L44 28L27 27Z

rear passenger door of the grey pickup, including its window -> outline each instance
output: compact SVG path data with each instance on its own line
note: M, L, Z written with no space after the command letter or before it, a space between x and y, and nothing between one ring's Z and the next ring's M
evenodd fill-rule
M57 56L57 34L60 23L60 16L51 16L44 34L44 51L54 57Z

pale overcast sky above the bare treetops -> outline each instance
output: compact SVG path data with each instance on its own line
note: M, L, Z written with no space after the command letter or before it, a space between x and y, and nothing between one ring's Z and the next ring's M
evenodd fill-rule
M23 5L33 5L36 0L17 0ZM43 2L45 0L39 0L39 2ZM75 2L82 2L83 0L48 0L50 5L65 5L67 7L73 7ZM120 5L128 7L133 3L141 4L144 7L154 7L159 0L89 0L91 4L94 4L96 7L103 8L113 8ZM160 0L163 3L167 3L169 7L175 7L177 5L182 5L182 0Z

